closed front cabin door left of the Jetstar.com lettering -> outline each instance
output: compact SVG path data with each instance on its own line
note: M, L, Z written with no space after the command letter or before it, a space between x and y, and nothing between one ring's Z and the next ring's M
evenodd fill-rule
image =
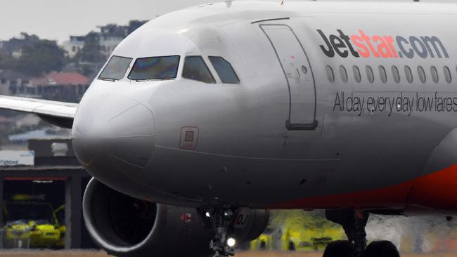
M288 25L260 25L278 57L289 90L288 130L314 130L316 87L311 65L295 33Z

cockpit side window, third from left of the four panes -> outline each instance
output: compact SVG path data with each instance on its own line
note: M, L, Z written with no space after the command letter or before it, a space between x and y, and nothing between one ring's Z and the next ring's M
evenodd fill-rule
M216 83L201 56L188 56L184 63L183 77L205 83Z

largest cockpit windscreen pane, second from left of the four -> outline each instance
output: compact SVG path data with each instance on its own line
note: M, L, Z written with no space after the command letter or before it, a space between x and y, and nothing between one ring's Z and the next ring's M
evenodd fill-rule
M136 59L129 79L141 81L150 79L176 79L179 55Z

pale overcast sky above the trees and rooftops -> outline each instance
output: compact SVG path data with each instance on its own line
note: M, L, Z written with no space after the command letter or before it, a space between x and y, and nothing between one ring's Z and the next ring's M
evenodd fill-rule
M150 20L158 14L208 1L210 0L2 0L0 40L27 32L62 42L70 34L83 35L98 25L126 25L129 20Z

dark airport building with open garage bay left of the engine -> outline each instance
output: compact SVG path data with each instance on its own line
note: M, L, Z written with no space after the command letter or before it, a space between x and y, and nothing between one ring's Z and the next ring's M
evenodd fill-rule
M2 248L96 248L82 218L91 179L70 139L29 140L26 151L0 152Z

